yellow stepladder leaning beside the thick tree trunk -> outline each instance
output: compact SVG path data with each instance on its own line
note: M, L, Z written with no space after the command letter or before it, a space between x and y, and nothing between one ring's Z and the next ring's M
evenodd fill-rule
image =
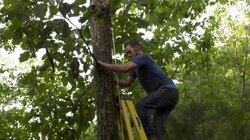
M130 120L133 121L133 125L136 128L140 140L147 140L147 136L143 129L142 123L137 115L131 96L121 93L119 95L119 116L118 122L122 131L122 137L124 140L134 140L132 126Z

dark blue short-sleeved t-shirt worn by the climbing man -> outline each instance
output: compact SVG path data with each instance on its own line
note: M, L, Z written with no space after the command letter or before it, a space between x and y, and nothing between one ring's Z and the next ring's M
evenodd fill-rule
M132 57L131 62L138 67L130 72L131 77L138 77L142 87L147 93L156 91L161 86L176 88L174 82L164 73L154 60L146 54Z

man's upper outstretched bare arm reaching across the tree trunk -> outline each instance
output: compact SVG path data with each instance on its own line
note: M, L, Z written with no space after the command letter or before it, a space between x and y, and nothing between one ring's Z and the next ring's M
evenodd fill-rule
M137 67L137 64L135 64L133 62L128 62L127 64L116 64L116 65L103 63L102 61L99 61L99 60L97 62L102 67L109 69L111 71L115 71L115 72L127 73L129 71L134 70Z

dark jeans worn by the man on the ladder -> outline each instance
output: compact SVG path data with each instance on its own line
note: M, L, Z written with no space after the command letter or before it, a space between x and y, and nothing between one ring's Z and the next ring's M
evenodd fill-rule
M178 99L177 89L160 87L137 102L138 115L148 137L156 135L159 140L166 140L165 124ZM150 109L155 110L153 121L148 113Z

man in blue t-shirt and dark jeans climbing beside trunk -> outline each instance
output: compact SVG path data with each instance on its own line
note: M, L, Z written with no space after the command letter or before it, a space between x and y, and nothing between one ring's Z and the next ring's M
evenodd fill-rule
M128 41L124 44L124 51L132 57L128 63L113 65L98 61L98 64L111 71L130 72L127 79L119 80L121 87L129 87L135 78L139 79L148 93L136 104L145 133L149 139L166 140L164 125L178 101L178 90L154 60L143 53L139 42ZM148 113L150 109L155 110L153 120Z

